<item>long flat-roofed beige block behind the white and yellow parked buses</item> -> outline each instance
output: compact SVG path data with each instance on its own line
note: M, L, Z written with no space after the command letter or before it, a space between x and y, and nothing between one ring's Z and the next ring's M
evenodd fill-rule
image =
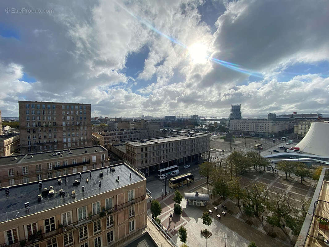
M149 174L166 165L198 160L210 148L210 135L188 133L110 145L110 151L123 156L143 173Z

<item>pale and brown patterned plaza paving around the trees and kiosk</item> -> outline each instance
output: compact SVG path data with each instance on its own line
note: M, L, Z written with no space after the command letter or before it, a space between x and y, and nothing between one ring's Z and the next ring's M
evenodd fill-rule
M272 173L257 171L250 171L245 173L242 177L244 181L258 181L266 183L271 186L272 191L290 192L295 198L296 206L300 207L300 200L305 198L312 198L316 181L305 179L304 184L300 183L300 178L296 178L296 181L292 178L285 179L285 174L280 173L272 176ZM190 189L184 187L180 189L184 197L184 192L199 191L199 193L208 193L207 185L201 184L201 181L195 181L193 183L194 188ZM193 187L193 186L191 186ZM276 238L272 238L267 233L272 230L272 227L266 223L266 215L268 212L263 213L263 225L262 217L249 217L246 216L243 211L236 206L236 202L226 199L218 200L218 211L214 211L214 205L212 204L215 199L211 199L205 207L189 206L186 205L186 200L183 199L181 206L183 213L176 215L173 213L174 202L172 201L173 194L161 200L162 214L159 216L164 228L168 224L168 234L172 236L172 239L176 241L177 245L181 244L178 238L177 231L180 226L184 226L187 229L188 240L187 245L193 246L225 246L225 233L227 234L226 246L248 246L250 241L255 241L257 246L271 247L271 246L293 246L296 237L292 236L291 231L287 228L282 231L279 228L274 228L274 232L277 233ZM218 199L218 198L216 198ZM221 211L221 205L228 207L228 211L224 216ZM149 207L148 207L149 208ZM207 240L201 235L200 230L205 229L205 225L202 223L202 213L212 209L214 212L211 215L213 223L207 227L213 235ZM241 207L242 209L242 207ZM170 213L173 214L172 220L170 219ZM216 215L220 214L221 219L217 219ZM248 220L248 221L247 221ZM248 222L249 224L245 223ZM207 241L207 243L206 243Z

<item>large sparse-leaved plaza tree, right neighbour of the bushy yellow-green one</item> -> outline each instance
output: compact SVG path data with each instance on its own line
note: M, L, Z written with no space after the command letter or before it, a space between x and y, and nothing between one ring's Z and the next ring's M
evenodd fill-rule
M290 193L280 194L275 192L269 196L266 202L266 209L272 212L271 216L266 217L267 223L269 223L273 228L282 227L282 218L289 215L295 208L295 200L291 197Z

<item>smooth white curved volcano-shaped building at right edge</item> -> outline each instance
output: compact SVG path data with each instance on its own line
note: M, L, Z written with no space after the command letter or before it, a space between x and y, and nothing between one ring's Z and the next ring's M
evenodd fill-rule
M304 153L329 155L329 124L312 123L309 131L296 147Z

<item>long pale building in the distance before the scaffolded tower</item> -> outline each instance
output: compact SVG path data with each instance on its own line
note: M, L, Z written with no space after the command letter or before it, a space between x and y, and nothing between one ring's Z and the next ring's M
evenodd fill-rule
M278 136L293 128L293 124L274 123L272 120L231 120L230 130L239 133L257 133L260 135Z

